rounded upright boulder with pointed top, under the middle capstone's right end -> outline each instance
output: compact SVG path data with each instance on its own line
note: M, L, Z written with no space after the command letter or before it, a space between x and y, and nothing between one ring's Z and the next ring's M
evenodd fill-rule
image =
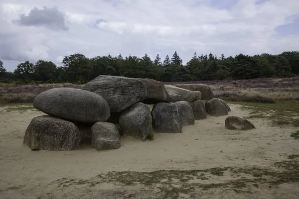
M136 139L152 139L152 124L149 106L138 102L125 110L120 117L122 134Z

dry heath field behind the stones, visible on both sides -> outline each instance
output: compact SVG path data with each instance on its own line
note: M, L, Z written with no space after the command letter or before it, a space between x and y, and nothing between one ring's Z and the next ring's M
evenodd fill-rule
M224 80L199 82L167 82L164 84L207 84L212 88L216 98L229 101L275 103L282 100L299 100L299 77L253 80ZM52 88L69 87L81 88L83 85L72 84L41 84L15 85L0 84L1 103L32 102L41 92Z

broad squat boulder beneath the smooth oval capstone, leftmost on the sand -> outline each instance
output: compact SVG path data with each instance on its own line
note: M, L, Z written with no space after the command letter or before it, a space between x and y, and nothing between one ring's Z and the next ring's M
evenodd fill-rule
M23 144L32 150L69 151L81 142L79 128L64 119L42 115L29 123Z

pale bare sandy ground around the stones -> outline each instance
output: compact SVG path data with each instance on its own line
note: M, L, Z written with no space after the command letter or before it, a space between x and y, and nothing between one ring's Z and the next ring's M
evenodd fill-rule
M249 111L230 104L229 115L244 117ZM157 170L203 170L215 167L261 167L287 161L299 154L298 140L290 137L295 128L271 127L270 122L251 119L256 129L226 130L227 116L208 116L184 126L182 134L155 133L153 141L122 138L117 150L96 151L82 147L74 151L31 151L22 146L23 135L38 111L0 109L0 199L158 199L157 190L137 184L107 183L96 176L110 171L152 172ZM209 175L204 184L223 183L235 174ZM239 179L250 178L237 175ZM70 183L75 181L77 183ZM89 182L78 183L78 182ZM90 182L95 183L90 186ZM68 183L68 184L67 184ZM198 183L198 182L197 182ZM175 190L173 190L175 191ZM171 198L169 194L168 198ZM202 199L298 199L299 184L260 185L236 192L224 187L179 193L179 198ZM167 194L164 196L167 198ZM172 197L177 198L177 197Z

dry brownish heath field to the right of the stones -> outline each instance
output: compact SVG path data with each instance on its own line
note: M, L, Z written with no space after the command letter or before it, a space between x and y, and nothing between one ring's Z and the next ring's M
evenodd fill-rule
M263 99L265 101L299 100L299 77L284 79L260 78L252 80L172 82L165 84L196 83L209 85L215 97L224 98L224 100L250 101L250 99L252 99L254 102L264 102Z

